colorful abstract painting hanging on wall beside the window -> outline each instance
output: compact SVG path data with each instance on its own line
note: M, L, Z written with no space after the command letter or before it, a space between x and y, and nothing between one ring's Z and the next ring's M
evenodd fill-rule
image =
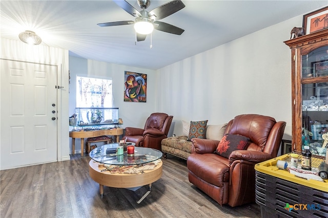
M124 72L124 101L146 102L147 74Z

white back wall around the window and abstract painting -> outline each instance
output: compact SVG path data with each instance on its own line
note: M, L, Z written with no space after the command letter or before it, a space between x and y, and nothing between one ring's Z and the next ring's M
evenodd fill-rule
M122 66L115 63L100 62L69 56L70 69L70 94L69 94L69 115L75 113L76 107L76 75L92 76L99 78L109 78L113 80L114 105L118 107L118 116L122 118L127 126L144 128L145 121L149 115L155 112L156 93L156 72L154 70ZM124 72L131 71L135 73L147 74L147 102L125 102L124 101ZM72 128L72 127L70 127ZM75 140L75 150L80 152L80 139ZM70 139L70 152L72 151L72 142Z

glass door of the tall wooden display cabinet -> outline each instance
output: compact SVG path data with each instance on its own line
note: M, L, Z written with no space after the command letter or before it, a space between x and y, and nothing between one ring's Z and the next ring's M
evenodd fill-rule
M304 145L309 145L312 154L325 156L323 143L328 136L328 46L302 55L301 71L302 149Z

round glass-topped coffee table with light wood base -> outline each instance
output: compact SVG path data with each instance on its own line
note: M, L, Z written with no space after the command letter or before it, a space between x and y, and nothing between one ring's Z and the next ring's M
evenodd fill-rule
M137 190L149 185L149 191L137 201L139 204L151 191L151 184L162 175L162 152L148 147L135 147L135 154L117 156L115 148L119 143L112 143L95 148L90 152L89 175L99 183L100 195L104 194L104 185L113 188ZM106 153L111 150L112 153Z

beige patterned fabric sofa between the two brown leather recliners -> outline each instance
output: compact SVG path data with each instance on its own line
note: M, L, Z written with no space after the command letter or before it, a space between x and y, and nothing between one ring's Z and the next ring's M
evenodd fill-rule
M212 140L221 140L228 123L206 126L206 138ZM177 137L168 137L161 141L161 149L166 159L167 154L187 160L191 154L192 142L189 140L190 123L182 121L183 135Z

